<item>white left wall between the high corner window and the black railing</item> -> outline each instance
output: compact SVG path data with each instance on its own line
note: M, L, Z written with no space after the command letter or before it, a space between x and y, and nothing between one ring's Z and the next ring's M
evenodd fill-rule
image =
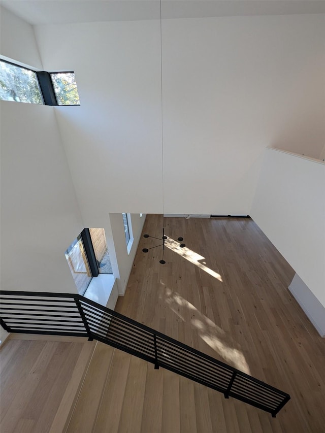
M0 108L1 287L77 293L64 251L84 225L53 108Z

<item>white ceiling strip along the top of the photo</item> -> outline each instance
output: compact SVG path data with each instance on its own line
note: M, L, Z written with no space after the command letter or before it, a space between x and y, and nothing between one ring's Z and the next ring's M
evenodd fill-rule
M1 0L30 24L160 18L159 0ZM324 0L162 0L163 18L325 13Z

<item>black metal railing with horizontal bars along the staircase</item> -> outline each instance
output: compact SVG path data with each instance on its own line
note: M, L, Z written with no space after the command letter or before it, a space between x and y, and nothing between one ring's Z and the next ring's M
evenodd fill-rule
M79 294L0 292L9 332L88 337L234 397L273 417L289 394Z

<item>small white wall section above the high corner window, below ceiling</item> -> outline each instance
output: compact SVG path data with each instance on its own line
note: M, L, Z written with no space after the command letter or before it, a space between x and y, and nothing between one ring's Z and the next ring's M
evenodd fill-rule
M0 7L0 46L2 56L43 69L33 27L3 7Z

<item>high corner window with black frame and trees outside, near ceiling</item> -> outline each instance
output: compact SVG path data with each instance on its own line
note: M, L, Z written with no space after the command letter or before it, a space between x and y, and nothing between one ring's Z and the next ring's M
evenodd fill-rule
M79 106L74 72L33 71L0 59L0 99L51 106Z

